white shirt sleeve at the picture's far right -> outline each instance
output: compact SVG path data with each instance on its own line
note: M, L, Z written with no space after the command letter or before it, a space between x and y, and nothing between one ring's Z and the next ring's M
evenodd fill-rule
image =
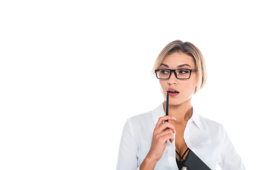
M223 139L221 163L219 164L221 170L245 170L244 164L242 163L239 154L236 152L223 125L221 125L221 131Z

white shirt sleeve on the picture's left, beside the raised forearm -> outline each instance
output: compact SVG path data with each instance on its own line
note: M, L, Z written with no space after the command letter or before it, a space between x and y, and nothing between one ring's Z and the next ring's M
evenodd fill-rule
M131 120L127 119L122 130L116 170L140 170L137 152L138 148L131 126Z

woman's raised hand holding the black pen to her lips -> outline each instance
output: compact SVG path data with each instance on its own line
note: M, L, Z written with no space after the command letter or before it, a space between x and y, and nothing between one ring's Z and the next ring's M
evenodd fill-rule
M168 120L169 122L163 122L165 120ZM176 130L175 126L171 123L171 120L175 120L175 118L171 116L163 116L158 119L157 125L154 128L151 147L147 155L151 160L158 161L162 157L168 139L171 143L174 141L173 133L176 134Z

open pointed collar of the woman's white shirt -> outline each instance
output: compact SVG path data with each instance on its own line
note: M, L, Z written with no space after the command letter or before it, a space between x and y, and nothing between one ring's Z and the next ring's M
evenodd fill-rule
M155 108L152 111L152 118L153 118L153 121L154 121L154 125L157 124L158 119L162 116L165 116L165 112L163 110L163 102L157 108ZM201 126L200 126L200 115L196 112L194 107L193 107L193 111L192 111L192 116L189 119L188 123L191 122L191 121L195 122L195 124L199 128L201 128Z

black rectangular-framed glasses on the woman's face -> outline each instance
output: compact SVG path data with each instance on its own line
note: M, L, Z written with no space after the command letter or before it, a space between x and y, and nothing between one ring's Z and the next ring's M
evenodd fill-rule
M155 73L157 75L157 79L169 79L171 77L172 72L174 72L175 77L177 79L189 79L191 72L195 72L197 70L190 70L190 69L184 69L179 68L175 70L171 69L157 69L155 70Z

